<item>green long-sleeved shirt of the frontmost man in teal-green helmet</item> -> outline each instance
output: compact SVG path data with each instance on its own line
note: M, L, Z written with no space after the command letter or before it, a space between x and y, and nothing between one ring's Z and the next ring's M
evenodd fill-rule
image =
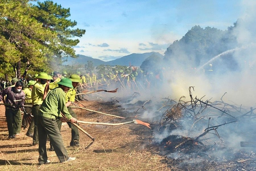
M67 119L71 119L72 116L66 107L65 92L60 88L54 88L46 96L42 103L38 115L46 118L56 119L60 112L64 114Z

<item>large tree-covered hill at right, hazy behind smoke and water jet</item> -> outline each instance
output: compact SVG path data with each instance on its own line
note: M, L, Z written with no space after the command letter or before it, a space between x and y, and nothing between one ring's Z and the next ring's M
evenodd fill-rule
M234 26L223 31L217 28L192 27L180 40L167 48L164 61L175 59L190 61L192 67L210 60L212 57L236 47L236 37L232 34Z

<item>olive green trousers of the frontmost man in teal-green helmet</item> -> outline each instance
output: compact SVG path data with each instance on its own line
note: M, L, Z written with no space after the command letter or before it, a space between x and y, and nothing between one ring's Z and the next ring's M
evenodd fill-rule
M38 132L40 132L40 134L38 134L39 164L46 163L48 159L46 149L47 136L49 137L50 142L53 145L54 151L59 158L59 161L67 161L67 159L69 159L69 156L67 154L67 150L64 147L63 140L58 125L56 123L56 119L37 116L37 128Z

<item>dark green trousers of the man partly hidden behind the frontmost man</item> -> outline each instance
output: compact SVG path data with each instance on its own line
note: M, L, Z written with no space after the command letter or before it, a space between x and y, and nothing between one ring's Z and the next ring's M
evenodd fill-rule
M77 115L75 112L71 109L71 107L68 107L68 111L70 115L77 119ZM61 120L60 118L56 119L57 125L59 127L59 130L61 130ZM79 131L76 126L71 124L70 122L67 123L69 125L69 128L71 128L71 142L70 145L79 144Z

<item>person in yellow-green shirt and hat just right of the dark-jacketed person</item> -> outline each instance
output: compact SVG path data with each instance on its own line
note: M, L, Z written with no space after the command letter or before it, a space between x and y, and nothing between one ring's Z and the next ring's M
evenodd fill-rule
M32 93L34 84L36 84L36 81L33 81L33 80L28 81L28 84L27 84L28 87L24 88L23 90L23 92L25 93L25 105L28 105L25 107L25 111L28 115L30 115L32 112L32 107L30 106L32 105L31 93ZM24 114L22 119L22 126L24 127L24 129L27 127L27 122L25 120L25 117L26 116ZM31 123L29 124L26 136L33 137L34 126L35 126L34 120L32 120Z

